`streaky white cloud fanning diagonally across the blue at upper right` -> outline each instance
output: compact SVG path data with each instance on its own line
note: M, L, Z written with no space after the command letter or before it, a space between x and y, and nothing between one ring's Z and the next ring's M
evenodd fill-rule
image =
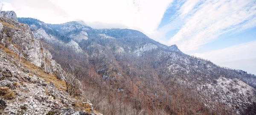
M197 50L201 45L212 42L221 34L244 31L256 26L256 2L255 0L201 2L188 0L180 7L175 20L182 20L184 25L167 44L176 44L182 51Z

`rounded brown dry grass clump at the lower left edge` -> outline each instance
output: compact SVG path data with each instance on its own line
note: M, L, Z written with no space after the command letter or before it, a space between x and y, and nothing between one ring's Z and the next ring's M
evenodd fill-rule
M0 95L5 99L15 98L15 94L9 89L9 87L0 87Z

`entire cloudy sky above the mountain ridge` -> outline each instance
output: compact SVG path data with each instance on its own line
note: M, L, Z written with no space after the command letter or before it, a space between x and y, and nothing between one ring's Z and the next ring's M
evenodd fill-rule
M17 17L129 28L186 54L256 74L256 0L0 0Z

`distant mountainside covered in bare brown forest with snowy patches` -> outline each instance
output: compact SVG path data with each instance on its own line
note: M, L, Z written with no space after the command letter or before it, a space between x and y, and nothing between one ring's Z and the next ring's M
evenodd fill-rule
M179 115L256 113L256 76L242 70L186 55L176 45L162 45L135 30L97 30L81 22L52 25L31 18L18 21L33 27L33 34L44 39L57 62L67 60L86 70L83 84L107 95L110 103L96 107L101 111L115 108L113 102L126 102L135 115L153 115L161 109ZM65 45L70 42L76 45ZM121 107L116 114L105 114L122 115Z

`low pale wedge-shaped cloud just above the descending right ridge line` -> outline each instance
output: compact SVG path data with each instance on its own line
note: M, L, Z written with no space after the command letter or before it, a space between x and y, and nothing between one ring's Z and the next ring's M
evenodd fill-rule
M244 69L256 74L256 41L234 45L206 53L194 53L197 57L209 59L213 63L234 69Z

